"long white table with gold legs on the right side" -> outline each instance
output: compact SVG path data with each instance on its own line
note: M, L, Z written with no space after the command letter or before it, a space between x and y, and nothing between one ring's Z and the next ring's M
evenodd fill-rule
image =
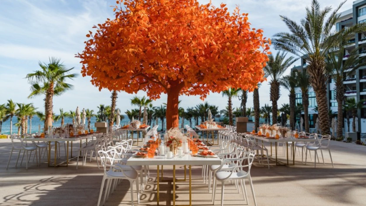
M277 158L277 147L278 147L278 143L282 142L282 143L286 143L286 146L288 148L288 143L292 142L292 165L295 165L295 143L297 142L315 142L315 141L319 141L318 139L315 138L295 138L295 137L291 137L291 138L279 138L279 139L275 139L275 138L266 138L264 136L258 136L258 135L254 135L254 134L246 134L249 135L251 138L257 139L259 141L263 142L269 142L271 143L271 147L272 147L272 143L275 143L275 152L276 152L276 165L280 165L279 163L282 163L278 160ZM286 165L290 165L289 164L289 159L288 159L288 149L286 150L286 154L287 154L287 164ZM272 153L272 152L271 152Z

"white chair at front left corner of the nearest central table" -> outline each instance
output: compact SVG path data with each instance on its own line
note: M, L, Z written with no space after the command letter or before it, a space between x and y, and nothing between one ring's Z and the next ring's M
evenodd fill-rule
M133 181L136 181L136 190L137 190L137 203L140 203L140 193L139 193L139 181L138 181L138 173L130 166L124 165L116 166L116 163L120 160L116 157L117 152L115 149L111 149L108 151L100 150L98 151L98 155L100 156L103 168L104 168L104 175L102 179L102 184L100 187L99 198L98 198L98 205L104 205L105 201L108 198L108 195L112 192L112 183L113 180L123 180L126 179L130 181L130 189L131 189L131 205L134 205L134 189L133 189ZM107 184L105 186L104 191L104 199L101 203L102 193L104 189L104 183L107 180Z

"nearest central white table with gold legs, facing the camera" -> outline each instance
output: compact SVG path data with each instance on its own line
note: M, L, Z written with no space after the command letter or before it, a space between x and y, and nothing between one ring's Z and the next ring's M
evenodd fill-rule
M166 158L165 156L155 156L153 158L131 157L127 160L127 165L156 165L157 166L157 193L156 200L159 205L159 165L173 165L173 205L175 206L175 165L189 165L189 205L192 205L191 187L191 166L192 165L220 165L221 159L218 157L193 157L185 154L183 157Z

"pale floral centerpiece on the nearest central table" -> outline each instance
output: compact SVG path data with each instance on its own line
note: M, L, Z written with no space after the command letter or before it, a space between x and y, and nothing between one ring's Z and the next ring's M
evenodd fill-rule
M178 153L178 147L182 147L183 142L187 141L187 136L185 136L179 128L171 128L164 135L165 142L169 147L169 151L172 151L174 155Z

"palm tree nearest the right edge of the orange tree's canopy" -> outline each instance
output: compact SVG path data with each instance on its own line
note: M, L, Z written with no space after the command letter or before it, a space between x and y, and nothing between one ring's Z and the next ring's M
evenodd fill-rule
M272 124L277 123L277 101L280 98L280 82L281 77L284 72L293 64L296 59L291 56L286 58L287 53L277 52L276 56L272 54L268 56L268 61L264 67L264 72L266 76L270 76L270 101L272 101Z

